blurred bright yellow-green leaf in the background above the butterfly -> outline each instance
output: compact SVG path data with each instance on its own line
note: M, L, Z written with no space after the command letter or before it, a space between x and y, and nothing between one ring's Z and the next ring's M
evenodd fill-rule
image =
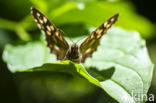
M127 30L136 30L144 38L154 36L155 26L145 17L138 15L130 2L67 2L55 8L50 13L52 21L57 24L81 22L88 26L97 27L109 17L120 13L118 25Z

